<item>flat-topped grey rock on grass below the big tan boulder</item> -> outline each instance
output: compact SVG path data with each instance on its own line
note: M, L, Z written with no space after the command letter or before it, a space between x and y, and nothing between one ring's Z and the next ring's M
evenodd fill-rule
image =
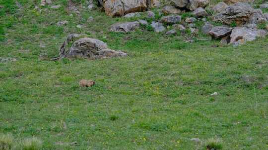
M139 22L126 22L126 23L117 23L112 25L111 32L133 32L135 29L139 28Z

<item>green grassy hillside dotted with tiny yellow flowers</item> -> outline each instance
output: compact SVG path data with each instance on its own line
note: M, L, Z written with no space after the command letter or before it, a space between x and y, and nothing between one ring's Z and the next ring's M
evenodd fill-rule
M192 138L213 137L222 150L268 148L268 38L232 47L150 27L110 33L112 24L134 19L82 8L71 17L65 0L41 12L34 10L40 0L17 1L23 8L0 16L0 57L17 59L0 63L0 133L37 137L43 150L193 150ZM129 56L51 61L70 33ZM83 78L95 86L80 88Z

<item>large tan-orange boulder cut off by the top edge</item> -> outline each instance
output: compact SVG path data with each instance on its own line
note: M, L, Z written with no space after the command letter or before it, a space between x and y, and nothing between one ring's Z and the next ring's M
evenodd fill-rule
M147 9L147 0L105 0L105 13L109 16L124 16Z

